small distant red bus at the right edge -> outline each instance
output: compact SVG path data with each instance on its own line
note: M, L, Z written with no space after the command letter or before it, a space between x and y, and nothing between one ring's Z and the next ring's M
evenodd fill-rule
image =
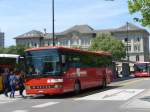
M150 76L150 62L137 62L134 64L135 77L149 77Z

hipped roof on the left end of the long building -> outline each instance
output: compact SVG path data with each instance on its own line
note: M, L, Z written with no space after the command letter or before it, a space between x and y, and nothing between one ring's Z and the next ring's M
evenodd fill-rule
M42 32L37 31L37 30L32 30L32 31L29 31L27 33L24 33L22 35L15 37L15 39L18 39L18 38L40 38L40 37L43 37Z

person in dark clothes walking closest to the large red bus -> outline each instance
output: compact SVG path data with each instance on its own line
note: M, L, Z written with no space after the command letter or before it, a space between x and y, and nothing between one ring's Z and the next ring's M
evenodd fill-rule
M23 95L23 91L25 89L24 87L24 76L23 76L23 72L20 72L20 74L17 75L17 86L19 89L19 94L24 97Z

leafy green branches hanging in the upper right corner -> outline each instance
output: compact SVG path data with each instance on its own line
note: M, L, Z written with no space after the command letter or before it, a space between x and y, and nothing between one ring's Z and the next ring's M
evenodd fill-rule
M150 27L150 0L128 0L128 8L131 14L141 15L139 18L135 17L135 21Z

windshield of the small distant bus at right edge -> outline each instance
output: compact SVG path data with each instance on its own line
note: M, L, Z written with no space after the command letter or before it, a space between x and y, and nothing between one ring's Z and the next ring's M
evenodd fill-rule
M135 64L135 71L147 72L148 71L148 64L146 64L146 63Z

